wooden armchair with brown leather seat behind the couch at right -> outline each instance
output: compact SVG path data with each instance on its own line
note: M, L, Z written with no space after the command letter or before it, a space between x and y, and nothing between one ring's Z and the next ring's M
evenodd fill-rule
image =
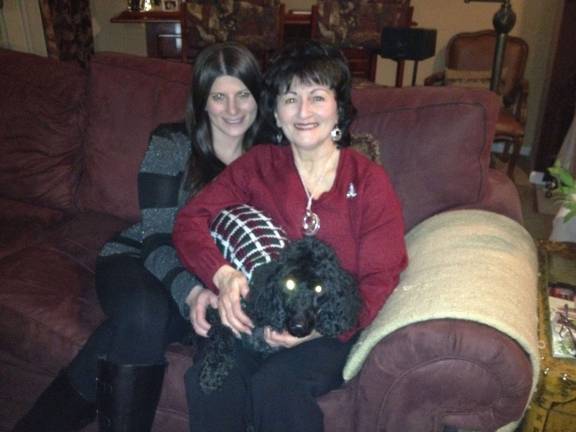
M427 77L424 85L490 88L495 47L496 33L493 30L456 34L446 47L446 70ZM514 167L524 141L528 98L528 81L524 78L524 72L528 51L528 44L523 39L508 37L498 89L502 109L496 124L495 140L504 141L502 159L508 163L507 174L510 178L514 176Z

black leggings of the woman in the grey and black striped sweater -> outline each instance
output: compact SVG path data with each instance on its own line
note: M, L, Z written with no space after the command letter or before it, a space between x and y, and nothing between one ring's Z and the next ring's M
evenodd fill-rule
M107 319L68 367L72 385L91 401L96 399L98 358L131 365L164 363L168 345L191 331L168 289L144 268L140 258L99 258L95 279Z

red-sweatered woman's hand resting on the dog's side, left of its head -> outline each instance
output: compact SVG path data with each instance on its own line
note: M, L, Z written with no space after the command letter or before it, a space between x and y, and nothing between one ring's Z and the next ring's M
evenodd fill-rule
M254 325L242 310L241 299L248 295L248 280L242 272L229 265L220 267L214 274L214 285L220 291L218 311L222 323L230 327L236 336L250 334Z

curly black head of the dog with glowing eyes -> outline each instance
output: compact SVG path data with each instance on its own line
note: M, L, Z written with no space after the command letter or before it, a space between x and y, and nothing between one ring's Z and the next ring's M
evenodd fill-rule
M332 249L307 237L257 269L247 312L257 326L287 330L296 337L313 330L336 336L354 327L360 305L356 283Z

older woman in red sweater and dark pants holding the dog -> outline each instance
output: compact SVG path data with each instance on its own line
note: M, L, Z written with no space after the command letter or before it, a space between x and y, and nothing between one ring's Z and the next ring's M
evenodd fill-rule
M182 262L218 293L223 323L249 333L241 307L246 277L225 261L209 226L224 208L247 203L290 239L315 235L335 250L359 283L358 328L327 338L266 332L266 358L236 350L238 366L221 391L204 394L198 367L186 375L190 430L322 431L315 399L342 383L355 333L374 319L406 266L400 205L388 176L350 145L350 72L341 53L308 41L285 48L265 76L261 111L279 145L256 146L232 163L179 213L174 243Z

